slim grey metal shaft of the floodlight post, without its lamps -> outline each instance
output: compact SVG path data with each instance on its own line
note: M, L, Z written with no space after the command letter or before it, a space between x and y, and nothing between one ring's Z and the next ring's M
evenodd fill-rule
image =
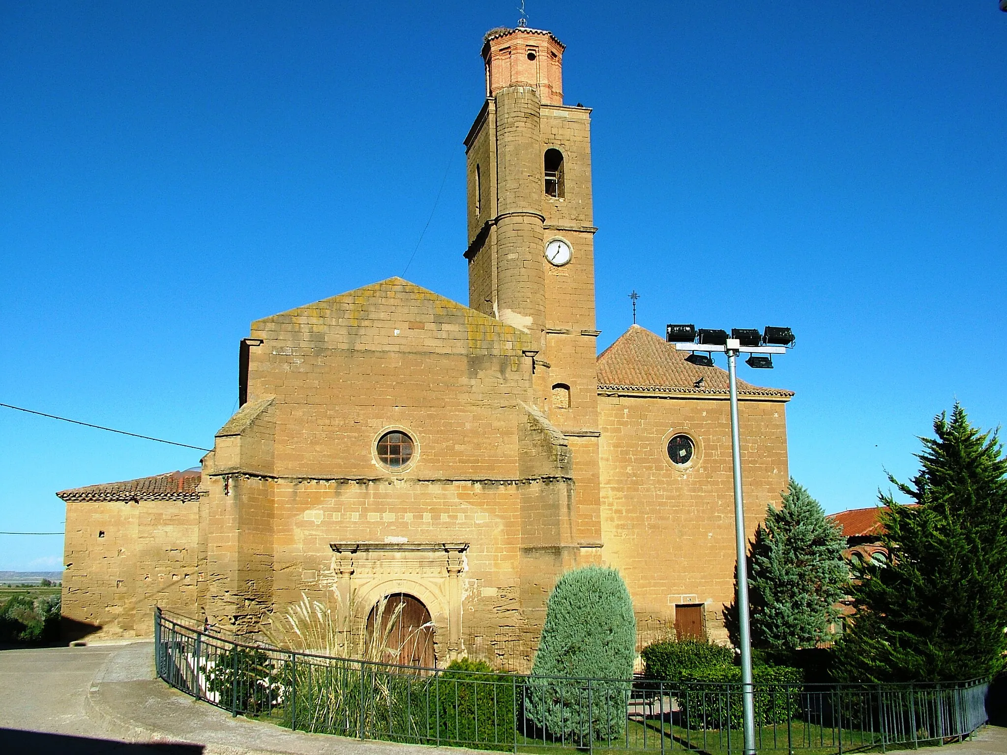
M755 753L755 691L752 688L752 635L748 617L748 560L745 506L741 490L741 433L738 430L737 358L741 344L727 341L727 380L731 395L731 462L734 468L734 541L738 559L738 633L741 641L741 716L744 755Z

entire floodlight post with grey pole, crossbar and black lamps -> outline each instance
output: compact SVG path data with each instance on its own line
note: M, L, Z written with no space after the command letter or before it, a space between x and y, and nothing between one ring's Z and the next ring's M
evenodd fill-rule
M685 329L683 329L685 328ZM785 333L782 332L785 330ZM771 332L777 331L777 332ZM764 361L755 363L749 360L753 366L772 366L771 354L786 353L783 345L755 345L758 343L785 343L794 345L794 334L789 328L766 328L766 335L759 339L758 331L751 331L755 334L754 342L750 333L747 336L746 345L741 345L740 338L727 338L725 331L707 331L719 333L720 337L715 338L719 343L702 343L703 333L700 331L699 340L701 343L692 342L695 336L695 327L692 325L669 325L668 340L675 340L675 348L678 351L706 351L712 355L714 351L727 354L727 379L730 386L731 399L731 461L734 470L734 541L737 549L737 577L738 594L736 605L738 608L738 640L741 644L741 716L744 734L744 755L755 755L755 690L752 683L752 638L751 623L748 615L748 562L747 562L747 539L745 538L745 507L744 496L741 488L741 433L738 429L738 381L737 381L737 358L738 354L763 354L760 358ZM734 331L738 333L739 331ZM740 331L744 333L745 331ZM751 344L751 345L748 345ZM704 357L705 359L706 357ZM766 363L767 362L767 363ZM712 365L710 359L706 359L707 365Z

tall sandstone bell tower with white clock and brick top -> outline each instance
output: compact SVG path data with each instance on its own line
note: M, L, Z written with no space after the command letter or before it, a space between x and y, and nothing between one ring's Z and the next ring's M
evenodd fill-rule
M469 306L528 331L539 346L534 400L567 436L578 527L586 526L579 537L596 543L591 111L563 104L565 49L551 32L526 27L483 39L486 100L465 137L465 258Z

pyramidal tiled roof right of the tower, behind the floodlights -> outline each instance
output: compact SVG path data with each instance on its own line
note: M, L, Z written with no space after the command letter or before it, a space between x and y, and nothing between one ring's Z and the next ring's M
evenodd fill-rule
M701 350L701 349L697 349ZM688 351L677 351L657 333L632 325L598 356L599 391L726 395L727 372L686 361ZM703 383L697 388L700 379ZM765 396L784 401L793 391L759 388L738 380L739 396Z

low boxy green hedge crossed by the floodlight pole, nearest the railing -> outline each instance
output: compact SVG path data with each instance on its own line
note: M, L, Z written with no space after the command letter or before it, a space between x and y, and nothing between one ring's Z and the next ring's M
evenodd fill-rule
M801 712L801 670L782 665L752 668L755 725L783 724ZM727 687L729 685L730 687ZM793 685L793 688L785 687ZM690 727L740 728L741 668L707 666L684 670L677 692L680 715Z

